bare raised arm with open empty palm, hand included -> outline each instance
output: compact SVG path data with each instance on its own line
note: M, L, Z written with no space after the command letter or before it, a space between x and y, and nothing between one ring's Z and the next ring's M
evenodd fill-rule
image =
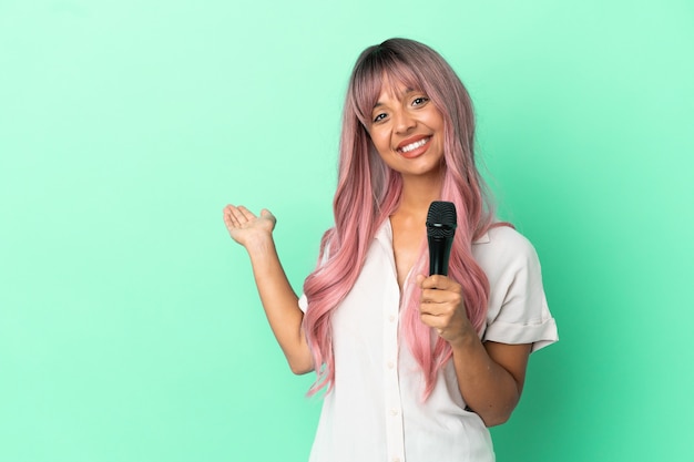
M244 206L227 205L224 223L229 236L248 251L265 315L289 368L297 374L314 370L302 327L304 314L275 248L275 217L266 209L256 216Z

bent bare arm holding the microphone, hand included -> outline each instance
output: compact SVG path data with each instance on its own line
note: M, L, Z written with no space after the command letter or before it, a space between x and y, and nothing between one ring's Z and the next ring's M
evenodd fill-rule
M421 320L450 343L463 400L487 427L506 422L520 400L530 345L482 343L460 285L446 276L419 276L419 284Z

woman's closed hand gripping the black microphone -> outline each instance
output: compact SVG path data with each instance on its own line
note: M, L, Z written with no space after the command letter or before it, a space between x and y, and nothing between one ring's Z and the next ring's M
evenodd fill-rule
M419 312L425 325L436 329L451 346L477 338L466 312L462 287L458 283L442 275L419 275L417 284L421 288Z

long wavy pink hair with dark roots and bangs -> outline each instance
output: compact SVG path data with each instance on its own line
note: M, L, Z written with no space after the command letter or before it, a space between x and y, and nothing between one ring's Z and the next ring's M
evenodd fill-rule
M328 391L333 387L336 366L331 315L357 280L376 230L400 201L400 174L380 160L365 129L385 76L423 91L443 115L446 168L440 198L455 203L458 211L449 277L462 286L468 318L476 329L479 331L484 324L489 283L472 258L471 243L492 226L493 214L474 165L474 116L470 96L436 51L411 40L387 40L361 53L349 80L334 199L335 227L325 233L320 263L304 284L308 299L304 327L317 373L309 394L326 386ZM428 274L423 229L422 224L421 251L414 274ZM404 289L402 333L425 376L426 399L436 384L439 369L452 352L447 341L420 321L420 290L415 286L407 285Z

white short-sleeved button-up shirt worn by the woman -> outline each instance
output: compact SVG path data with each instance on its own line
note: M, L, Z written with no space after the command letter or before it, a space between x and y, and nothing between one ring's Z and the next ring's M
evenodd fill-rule
M472 246L490 284L482 340L557 341L532 245L497 227ZM302 296L299 306L306 310ZM492 462L484 423L458 389L452 361L422 402L423 376L399 335L400 290L386 220L377 232L354 288L334 311L335 384L324 398L310 462Z

